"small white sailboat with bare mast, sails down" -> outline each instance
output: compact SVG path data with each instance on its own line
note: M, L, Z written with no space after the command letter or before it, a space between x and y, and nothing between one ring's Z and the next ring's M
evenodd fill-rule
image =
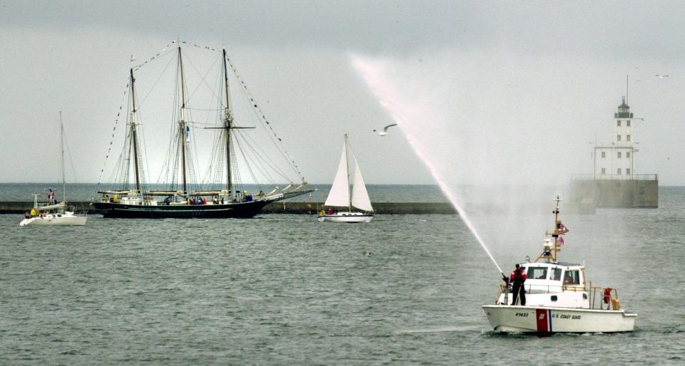
M62 178L62 202L57 202L55 193L50 189L49 201L46 204L38 203L38 194L34 194L34 208L26 218L21 220L19 226L52 226L52 225L85 225L87 216L78 216L73 213L73 207L66 204L66 183L64 179L64 125L62 125L62 113L59 113L59 148L61 152L61 178ZM71 211L70 211L71 210Z

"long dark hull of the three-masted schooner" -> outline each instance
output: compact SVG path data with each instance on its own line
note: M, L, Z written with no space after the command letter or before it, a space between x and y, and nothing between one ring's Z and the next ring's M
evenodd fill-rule
M104 217L121 219L228 219L250 218L263 209L268 201L230 204L119 204L93 202L93 207Z

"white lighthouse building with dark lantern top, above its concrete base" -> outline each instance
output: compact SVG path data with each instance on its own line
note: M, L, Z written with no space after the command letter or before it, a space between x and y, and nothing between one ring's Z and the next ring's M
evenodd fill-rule
M594 179L634 179L634 118L626 98L614 113L614 136L611 146L594 147Z

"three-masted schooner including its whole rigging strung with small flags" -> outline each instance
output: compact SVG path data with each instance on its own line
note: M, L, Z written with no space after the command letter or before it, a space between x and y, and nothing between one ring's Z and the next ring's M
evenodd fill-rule
M128 73L128 104L120 107L126 139L116 164L106 164L110 182L98 182L103 197L93 202L96 210L122 218L252 217L270 202L313 192L225 50L181 48L186 44L173 41ZM168 67L174 61L176 67ZM243 98L231 98L229 83ZM137 95L145 100L138 103ZM163 110L168 100L173 108ZM146 121L143 131L141 111L161 118ZM168 124L159 122L165 116ZM166 157L146 157L147 143L162 145L148 134L168 136ZM296 189L264 194L297 181L303 184Z

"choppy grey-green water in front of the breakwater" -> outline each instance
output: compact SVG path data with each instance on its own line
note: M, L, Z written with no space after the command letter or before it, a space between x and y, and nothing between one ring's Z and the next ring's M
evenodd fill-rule
M490 331L480 305L499 274L455 215L43 228L0 215L0 364L684 362L685 189L660 198L564 216L563 260L619 288L636 332L546 338ZM544 229L534 251L494 248L499 264L537 255Z

